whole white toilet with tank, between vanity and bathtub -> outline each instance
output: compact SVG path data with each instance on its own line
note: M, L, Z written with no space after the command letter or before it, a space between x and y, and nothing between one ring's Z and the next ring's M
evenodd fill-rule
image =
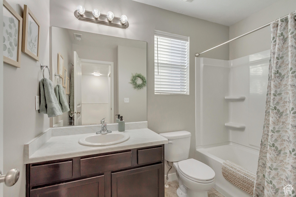
M165 144L165 160L173 162L179 181L178 197L208 197L207 191L215 185L214 170L197 161L188 159L191 133L174 131L160 133L168 139Z

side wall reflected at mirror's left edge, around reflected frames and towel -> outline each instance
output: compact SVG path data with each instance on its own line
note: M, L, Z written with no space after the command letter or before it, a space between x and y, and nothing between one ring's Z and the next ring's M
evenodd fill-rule
M52 81L54 88L58 84L58 77L54 76L54 74L58 74L58 53L61 53L64 58L64 67L67 69L67 76L70 78L71 71L73 66L70 63L73 63L73 51L72 51L72 42L69 38L69 34L66 29L51 27L51 45L52 45ZM64 77L64 80L67 80L67 77ZM63 80L61 78L60 84L63 84ZM66 94L66 88L64 88L64 92ZM69 104L69 95L66 94L66 100ZM72 121L70 122L69 112L64 112L62 115L53 117L53 125L63 121L63 126L72 125Z

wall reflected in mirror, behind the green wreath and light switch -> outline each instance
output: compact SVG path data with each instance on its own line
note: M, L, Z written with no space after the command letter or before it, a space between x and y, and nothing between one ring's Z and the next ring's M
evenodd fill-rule
M146 43L145 48L118 46L117 91L118 113L126 122L147 121L147 87L134 89L130 83L131 75L140 73L147 78ZM141 83L141 79L138 79ZM129 103L124 102L129 98Z

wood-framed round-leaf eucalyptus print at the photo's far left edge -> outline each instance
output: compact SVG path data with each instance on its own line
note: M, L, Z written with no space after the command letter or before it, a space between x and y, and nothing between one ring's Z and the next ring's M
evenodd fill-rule
M3 0L3 62L20 68L22 17Z

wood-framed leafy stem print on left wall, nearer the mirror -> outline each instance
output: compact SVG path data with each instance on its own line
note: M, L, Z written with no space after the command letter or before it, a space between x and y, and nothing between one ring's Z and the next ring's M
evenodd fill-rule
M27 5L24 5L22 52L39 61L40 24Z

